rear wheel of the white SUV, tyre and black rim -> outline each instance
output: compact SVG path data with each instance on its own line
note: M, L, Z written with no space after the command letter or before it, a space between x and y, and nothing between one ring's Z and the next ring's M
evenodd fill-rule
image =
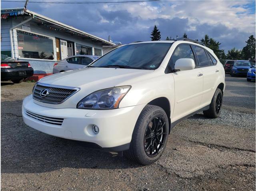
M208 110L203 111L204 116L210 118L217 118L220 116L220 110L222 107L222 97L222 91L219 88L217 88L212 97L210 108Z

